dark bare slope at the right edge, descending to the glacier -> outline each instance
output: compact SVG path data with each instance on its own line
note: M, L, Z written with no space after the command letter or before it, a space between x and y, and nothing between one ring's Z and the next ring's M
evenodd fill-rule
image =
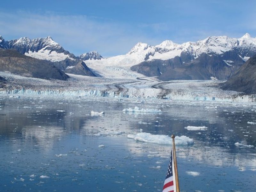
M246 61L235 75L222 84L222 89L246 94L256 93L256 55Z

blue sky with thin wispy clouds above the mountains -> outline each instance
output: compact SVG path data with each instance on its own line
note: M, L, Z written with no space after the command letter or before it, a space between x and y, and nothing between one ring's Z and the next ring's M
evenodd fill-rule
M51 36L75 55L126 54L150 45L208 36L256 37L255 0L9 0L0 6L5 40Z

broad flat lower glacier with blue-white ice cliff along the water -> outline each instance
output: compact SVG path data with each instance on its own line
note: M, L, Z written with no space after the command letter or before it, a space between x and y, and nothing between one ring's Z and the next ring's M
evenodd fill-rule
M0 95L87 98L167 99L191 101L255 102L255 95L223 91L218 80L174 80L161 82L154 77L105 78L68 74L68 81L44 80L0 72L8 83ZM68 85L68 86L67 86ZM127 109L129 111L131 109Z

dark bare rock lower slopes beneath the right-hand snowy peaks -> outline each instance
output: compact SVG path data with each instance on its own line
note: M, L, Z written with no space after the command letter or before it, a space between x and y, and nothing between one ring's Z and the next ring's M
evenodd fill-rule
M132 66L146 76L159 76L163 81L169 80L207 80L212 77L228 79L243 64L244 60L234 51L223 54L202 53L198 58L191 61L189 54L182 54L169 60L145 61ZM188 62L190 60L190 62Z

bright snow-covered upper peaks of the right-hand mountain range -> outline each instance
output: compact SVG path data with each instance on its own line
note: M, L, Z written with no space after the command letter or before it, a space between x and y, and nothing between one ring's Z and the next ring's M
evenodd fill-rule
M175 56L180 57L181 52L186 52L191 55L193 59L196 59L202 53L221 54L230 50L242 51L240 52L240 56L243 57L244 60L248 60L248 57L252 57L251 52L256 51L256 38L252 38L246 33L238 39L228 36L210 36L204 40L186 42L183 44L175 44L170 40L166 40L156 46L138 43L127 55L143 54L145 56L144 61L153 59L167 60Z

